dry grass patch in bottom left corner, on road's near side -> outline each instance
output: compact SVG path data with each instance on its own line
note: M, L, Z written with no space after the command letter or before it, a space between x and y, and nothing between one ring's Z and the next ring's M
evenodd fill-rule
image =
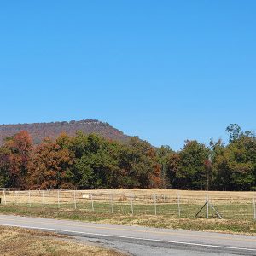
M102 247L79 244L54 233L0 226L0 252L3 256L120 256Z

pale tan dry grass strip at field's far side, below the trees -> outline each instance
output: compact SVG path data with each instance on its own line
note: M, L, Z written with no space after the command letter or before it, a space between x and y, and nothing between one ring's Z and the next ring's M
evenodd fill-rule
M214 204L229 203L251 203L253 201L254 192L230 192L230 191L191 191L191 190L176 190L176 189L96 189L96 190L21 190L21 191L9 191L5 193L5 199L9 203L38 203L43 204L43 195L45 204L56 204L59 200L63 203L71 202L74 200L80 202L89 202L91 195L94 201L110 201L111 196L114 201L125 202L130 201L131 196L138 203L144 203L149 200L153 200L153 196L157 196L157 201L169 201L176 203L177 195L185 201L201 204L208 195L209 198L214 201ZM0 197L3 201L3 191L0 191Z

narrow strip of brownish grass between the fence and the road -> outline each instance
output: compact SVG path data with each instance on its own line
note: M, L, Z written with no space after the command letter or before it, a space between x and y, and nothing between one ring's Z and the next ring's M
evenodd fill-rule
M246 220L220 220L205 218L172 218L154 215L122 215L119 213L95 213L82 210L37 208L26 206L0 206L0 213L32 216L39 218L59 218L89 221L102 224L141 225L156 228L183 230L204 230L225 233L256 235L256 222Z

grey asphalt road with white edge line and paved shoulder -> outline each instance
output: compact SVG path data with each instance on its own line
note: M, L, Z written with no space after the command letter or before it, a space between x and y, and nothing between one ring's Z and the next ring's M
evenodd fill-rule
M256 237L0 215L0 225L54 231L131 255L256 255ZM0 252L1 253L1 252Z

